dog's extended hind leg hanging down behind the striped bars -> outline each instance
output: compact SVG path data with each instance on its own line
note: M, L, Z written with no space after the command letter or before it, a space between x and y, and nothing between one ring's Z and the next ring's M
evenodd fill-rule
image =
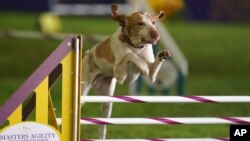
M116 79L113 77L99 77L96 80L94 88L99 95L112 96L115 91ZM111 117L113 103L102 103L102 114L105 118ZM107 125L101 125L99 130L99 138L105 139L107 132Z

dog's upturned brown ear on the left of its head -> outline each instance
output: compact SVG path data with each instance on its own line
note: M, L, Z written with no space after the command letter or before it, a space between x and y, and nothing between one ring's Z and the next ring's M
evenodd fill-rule
M118 15L116 13L117 9L118 9L118 6L116 4L112 4L111 5L111 12L112 12L111 16L112 16L112 19L115 20L115 21L118 21L119 24L122 27L124 27L125 26L125 22L126 22L125 20L126 20L127 16L124 15L124 14Z

